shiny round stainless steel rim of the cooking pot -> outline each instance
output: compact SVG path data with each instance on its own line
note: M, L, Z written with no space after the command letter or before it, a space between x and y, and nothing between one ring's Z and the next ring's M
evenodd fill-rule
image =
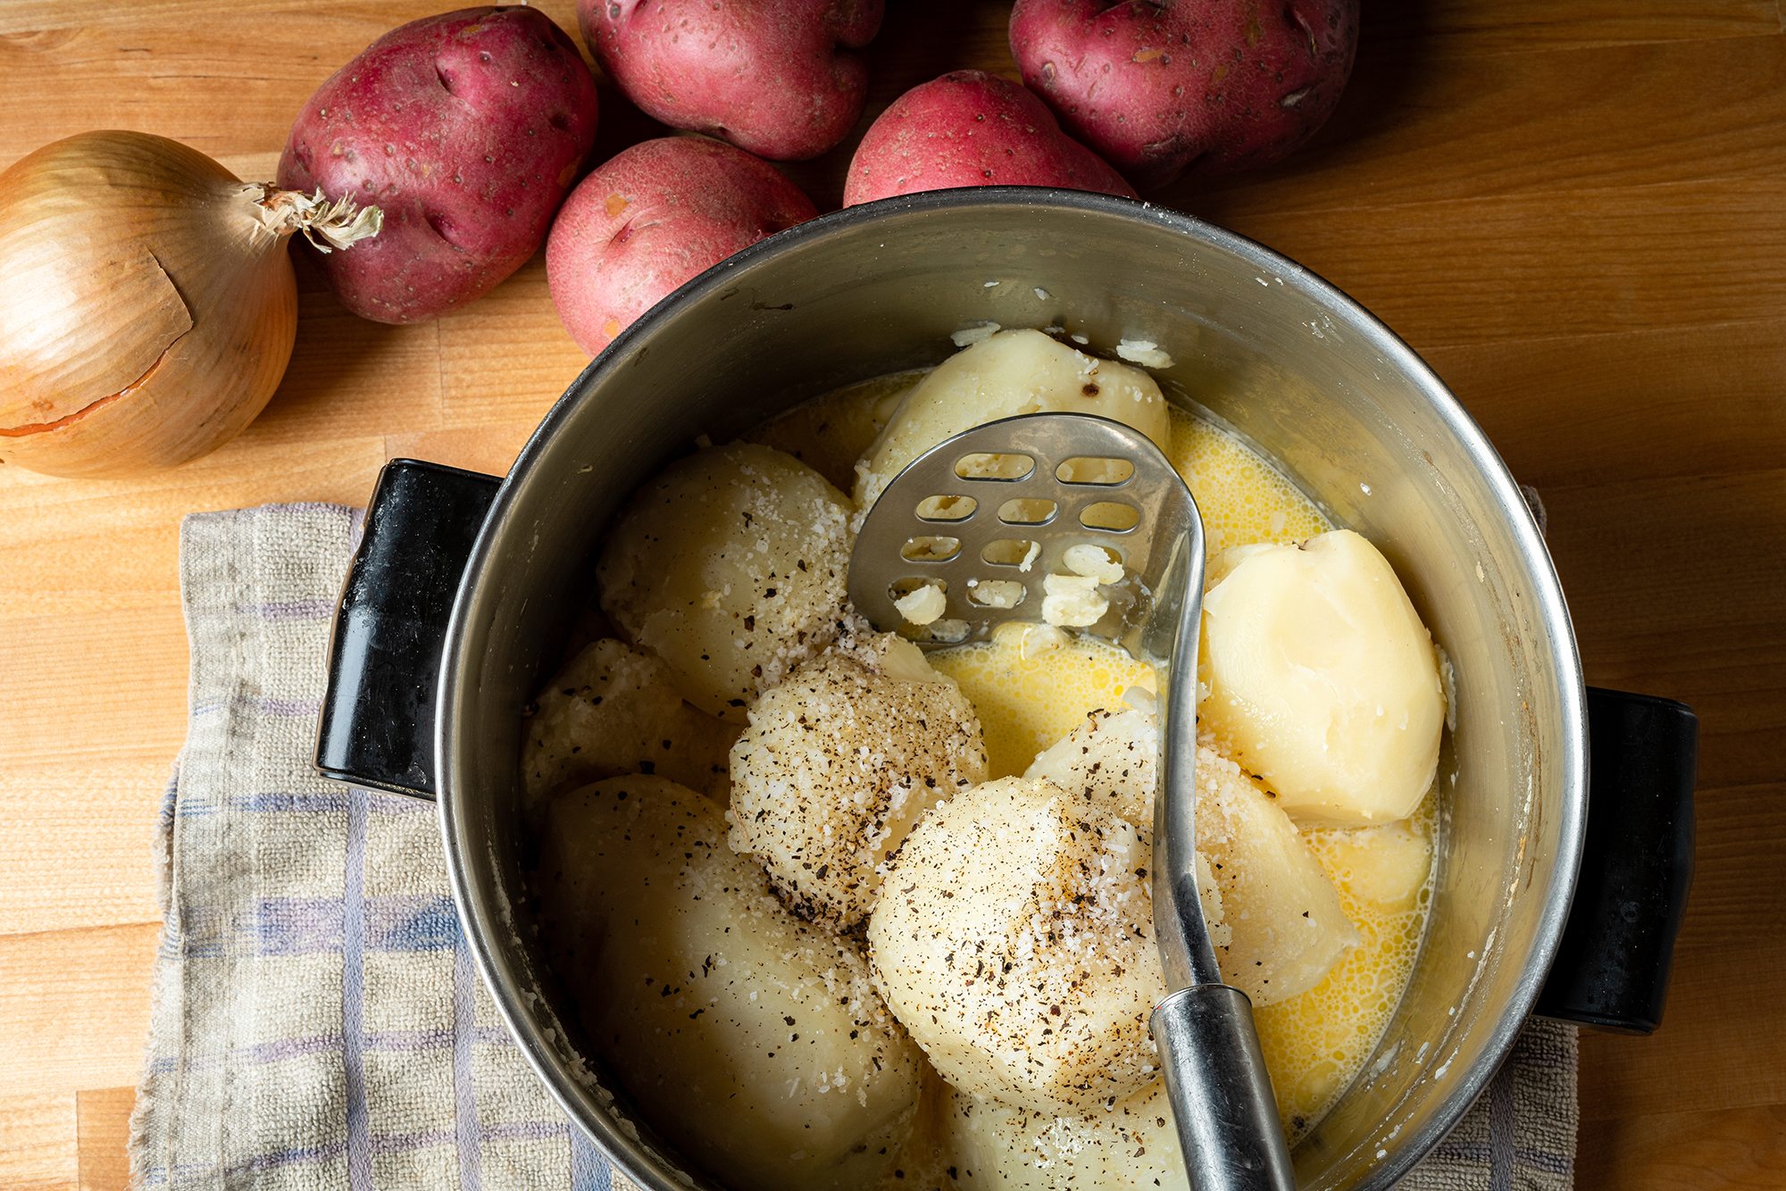
M872 204L843 207L809 220L784 232L777 232L748 248L727 257L707 271L684 282L650 311L638 318L564 389L563 396L539 421L539 427L527 439L516 457L514 466L504 477L489 514L472 546L472 557L464 568L454 598L452 618L446 629L446 645L441 657L441 680L436 702L436 775L439 784L439 825L446 848L446 870L452 884L454 904L459 911L466 943L472 948L477 970L484 979L498 1012L514 1036L516 1045L527 1057L529 1066L545 1082L547 1091L566 1111L605 1154L618 1159L625 1173L641 1180L650 1191L682 1191L684 1182L666 1173L652 1146L639 1141L638 1130L618 1120L611 1109L611 1096L598 1098L591 1086L579 1080L570 1064L547 1045L539 1032L541 1025L534 1018L536 996L522 987L525 973L516 971L498 948L489 946L489 939L502 932L513 934L507 925L509 907L500 889L482 889L470 880L464 861L464 821L461 818L459 766L452 748L452 723L455 709L472 686L468 677L472 657L468 652L470 630L480 614L479 580L482 579L497 543L514 521L514 504L518 493L529 482L530 471L545 454L547 443L557 434L561 425L573 416L582 396L618 373L632 357L634 350L648 343L655 329L666 320L704 296L714 295L734 284L739 273L748 271L761 261L782 254L798 252L814 239L823 239L834 232L854 229L861 223L893 212L954 212L963 209L1007 209L1022 207L1038 212L1064 212L1079 216L1118 216L1123 220L1141 220L1156 230L1173 236L1188 236L1211 248L1229 252L1261 271L1270 271L1282 279L1282 284L1298 289L1304 296L1332 311L1352 332L1361 336L1381 359L1397 368L1420 389L1445 429L1456 436L1466 454L1482 471L1482 479L1493 495L1495 511L1507 521L1518 550L1518 562L1534 577L1534 589L1529 593L1540 611L1538 627L1545 632L1548 661L1557 675L1557 705L1561 718L1561 814L1557 821L1557 862L1552 868L1548 887L1543 893L1543 911L1540 914L1534 945L1520 959L1520 975L1502 1007L1500 1018L1490 1030L1490 1039L1477 1061L1470 1064L1450 1086L1438 1093L1438 1107L1427 1121L1395 1137L1391 1152L1359 1179L1354 1187L1363 1191L1381 1191L1402 1179L1420 1159L1423 1159L1456 1127L1463 1114L1475 1104L1490 1079L1500 1068L1513 1048L1525 1018L1531 1014L1543 987L1545 975L1556 955L1568 909L1573 900L1575 875L1581 862L1582 836L1588 816L1588 716L1586 684L1581 671L1581 657L1575 646L1573 623L1563 598L1550 552L1525 504L1518 484L1513 480L1498 452L1482 434L1475 420L1463 409L1443 380L1427 366L1423 359L1386 323L1366 311L1341 289L1304 268L1302 264L1266 248L1245 236L1222 229L1197 216L1182 214L1148 202L1100 195L1091 191L1068 191L1034 186L986 186L945 191L923 191L882 198ZM1486 961L1486 955L1484 955ZM1479 961L1482 962L1482 961ZM1481 971L1481 968L1479 968ZM547 1034L554 1027L547 1027ZM1481 1027L1475 1027L1481 1029ZM1363 1071L1354 1079L1363 1079ZM1343 1098L1343 1093L1341 1093ZM1370 1141L1361 1145L1373 1145Z

